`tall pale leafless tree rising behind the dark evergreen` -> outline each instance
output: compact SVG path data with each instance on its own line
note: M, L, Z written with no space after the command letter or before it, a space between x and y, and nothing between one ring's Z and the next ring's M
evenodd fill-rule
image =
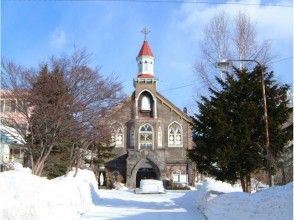
M233 18L224 11L216 14L203 29L203 36L201 58L194 70L208 88L216 89L215 76L220 72L215 65L221 59L256 59L265 65L272 59L269 41L258 42L256 28L244 12ZM240 67L250 66L252 63L240 63Z

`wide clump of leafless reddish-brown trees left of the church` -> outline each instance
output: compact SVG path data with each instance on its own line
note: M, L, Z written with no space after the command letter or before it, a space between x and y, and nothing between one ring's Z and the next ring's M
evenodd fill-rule
M105 139L103 116L122 100L122 87L117 78L103 77L99 68L90 68L88 61L89 55L80 50L72 56L52 57L39 71L23 70L11 62L2 65L2 88L29 105L19 111L28 123L22 135L36 175L42 174L54 147L70 144L69 166L79 167L82 153ZM3 123L20 127L9 115Z

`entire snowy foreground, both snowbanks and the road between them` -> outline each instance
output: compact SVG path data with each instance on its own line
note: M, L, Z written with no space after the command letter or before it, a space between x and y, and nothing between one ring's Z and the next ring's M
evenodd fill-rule
M135 194L132 190L98 190L87 170L53 180L16 167L0 173L1 220L291 220L293 183L257 193L207 179L195 190Z

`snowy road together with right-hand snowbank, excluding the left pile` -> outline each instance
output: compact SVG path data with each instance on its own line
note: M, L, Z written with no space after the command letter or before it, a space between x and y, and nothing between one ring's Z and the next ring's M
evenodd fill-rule
M134 194L128 190L100 190L98 205L81 220L208 219L291 220L293 184L257 193L243 193L239 185L208 178L188 192Z

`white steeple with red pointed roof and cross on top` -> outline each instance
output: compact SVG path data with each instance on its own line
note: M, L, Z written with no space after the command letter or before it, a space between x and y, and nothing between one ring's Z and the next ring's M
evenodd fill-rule
M145 39L136 58L138 64L138 78L153 78L154 56L146 39L146 36L150 31L147 28L144 28L142 32L145 35Z

